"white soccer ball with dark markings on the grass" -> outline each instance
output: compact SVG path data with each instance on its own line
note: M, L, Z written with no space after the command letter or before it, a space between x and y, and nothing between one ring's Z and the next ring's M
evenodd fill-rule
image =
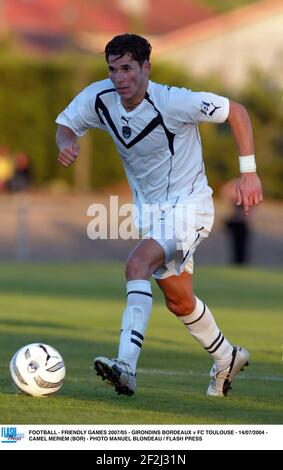
M14 384L22 392L34 397L57 392L63 385L65 373L62 356L48 344L27 344L10 361Z

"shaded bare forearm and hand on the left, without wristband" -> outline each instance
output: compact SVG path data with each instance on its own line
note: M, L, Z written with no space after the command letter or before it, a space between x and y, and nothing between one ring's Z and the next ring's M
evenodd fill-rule
M66 167L72 165L80 152L76 134L69 127L59 125L56 133L56 142L60 150L58 156L59 163Z

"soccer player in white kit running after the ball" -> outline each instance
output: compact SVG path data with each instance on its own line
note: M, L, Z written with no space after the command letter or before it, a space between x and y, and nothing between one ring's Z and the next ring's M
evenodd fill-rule
M243 205L245 214L263 199L252 127L241 104L150 81L150 53L151 45L143 37L114 37L105 47L109 78L85 88L56 119L59 162L66 167L78 157L77 139L87 129L98 127L111 135L142 234L126 263L127 305L117 359L97 357L94 367L118 394L135 393L137 362L152 309L153 276L168 309L213 359L207 394L223 397L248 364L249 352L228 341L208 306L193 294L193 254L213 224L212 190L197 124L229 123L240 155L237 204Z

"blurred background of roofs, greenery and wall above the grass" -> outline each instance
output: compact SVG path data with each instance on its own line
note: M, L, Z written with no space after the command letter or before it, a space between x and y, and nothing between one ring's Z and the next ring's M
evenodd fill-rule
M265 203L248 219L229 128L200 126L216 221L198 262L282 266L282 31L282 0L0 0L0 260L125 260L136 243L87 237L90 204L131 200L110 137L89 132L68 169L55 144L58 113L107 76L106 42L135 32L152 80L228 96L252 119Z

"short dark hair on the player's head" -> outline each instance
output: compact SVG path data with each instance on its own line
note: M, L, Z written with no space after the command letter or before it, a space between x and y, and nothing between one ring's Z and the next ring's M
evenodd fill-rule
M132 59L136 60L140 66L143 65L145 60L149 60L151 53L151 45L147 39L138 36L137 34L120 34L115 36L105 46L104 54L108 62L110 54L123 57L125 54L131 54Z

